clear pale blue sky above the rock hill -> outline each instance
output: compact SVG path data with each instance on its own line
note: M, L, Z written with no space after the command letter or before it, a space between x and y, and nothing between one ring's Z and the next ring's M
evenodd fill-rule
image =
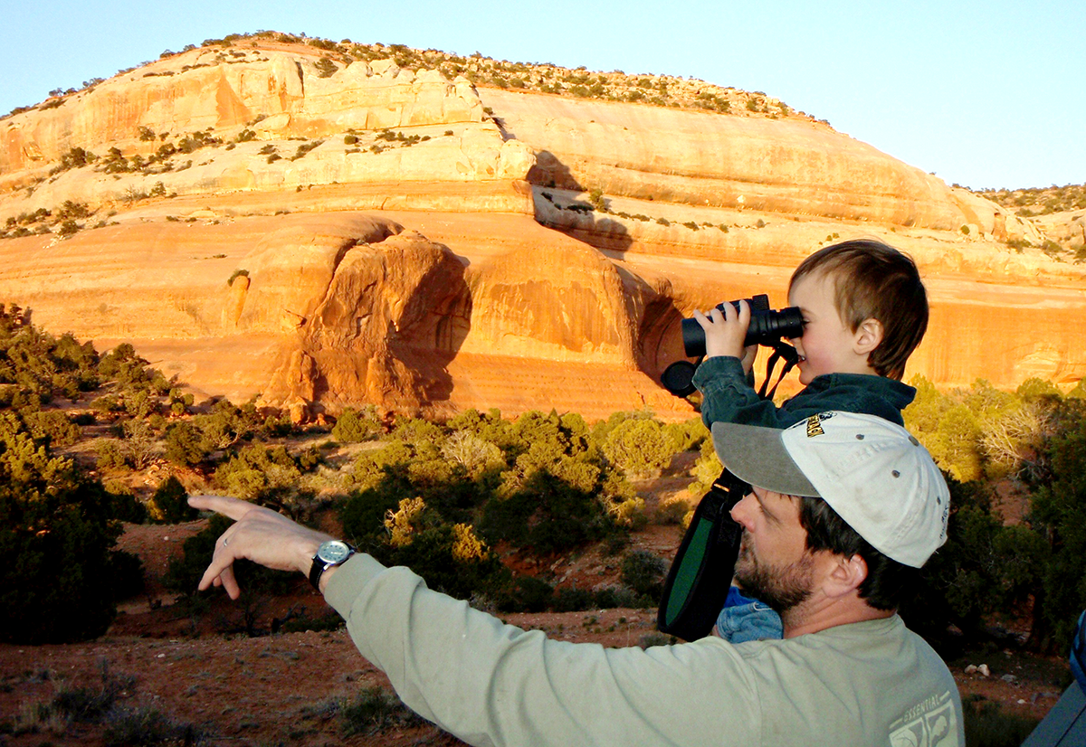
M776 97L947 183L1086 182L1083 0L41 0L4 16L0 113L166 49L273 29L702 78Z

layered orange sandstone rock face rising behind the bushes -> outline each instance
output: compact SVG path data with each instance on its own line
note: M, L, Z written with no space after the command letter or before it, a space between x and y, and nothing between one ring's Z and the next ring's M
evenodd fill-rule
M683 418L658 384L680 320L758 292L783 306L804 256L863 236L927 280L910 375L1086 375L1082 270L1002 243L1044 226L824 124L320 56L199 49L0 121L0 301L298 419Z

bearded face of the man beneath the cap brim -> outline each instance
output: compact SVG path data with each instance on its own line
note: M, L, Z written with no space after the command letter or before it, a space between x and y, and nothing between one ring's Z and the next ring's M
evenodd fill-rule
M813 558L799 523L799 502L754 488L732 508L732 518L743 526L735 561L743 590L779 613L805 602L811 595Z

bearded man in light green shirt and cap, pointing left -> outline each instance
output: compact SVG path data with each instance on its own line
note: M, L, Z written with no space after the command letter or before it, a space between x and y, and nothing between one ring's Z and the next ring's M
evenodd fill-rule
M550 641L216 496L190 503L238 521L200 586L237 598L242 557L310 573L404 702L473 745L963 746L950 672L892 606L901 577L946 537L949 494L927 452L898 426L846 413L783 431L716 423L712 434L756 485L733 514L737 571L778 607L784 640L647 650Z

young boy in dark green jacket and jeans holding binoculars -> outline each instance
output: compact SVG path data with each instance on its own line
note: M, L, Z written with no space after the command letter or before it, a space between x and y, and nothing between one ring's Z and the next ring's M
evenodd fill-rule
M927 329L927 294L915 264L880 241L825 246L803 261L788 282L788 305L803 314L799 383L805 389L780 407L758 398L748 383L756 345L744 349L750 309L724 304L706 317L706 357L694 375L702 419L787 428L825 410L876 415L904 425L901 409L915 390L901 383L905 363ZM732 643L780 638L778 615L740 588L728 600L714 633Z

